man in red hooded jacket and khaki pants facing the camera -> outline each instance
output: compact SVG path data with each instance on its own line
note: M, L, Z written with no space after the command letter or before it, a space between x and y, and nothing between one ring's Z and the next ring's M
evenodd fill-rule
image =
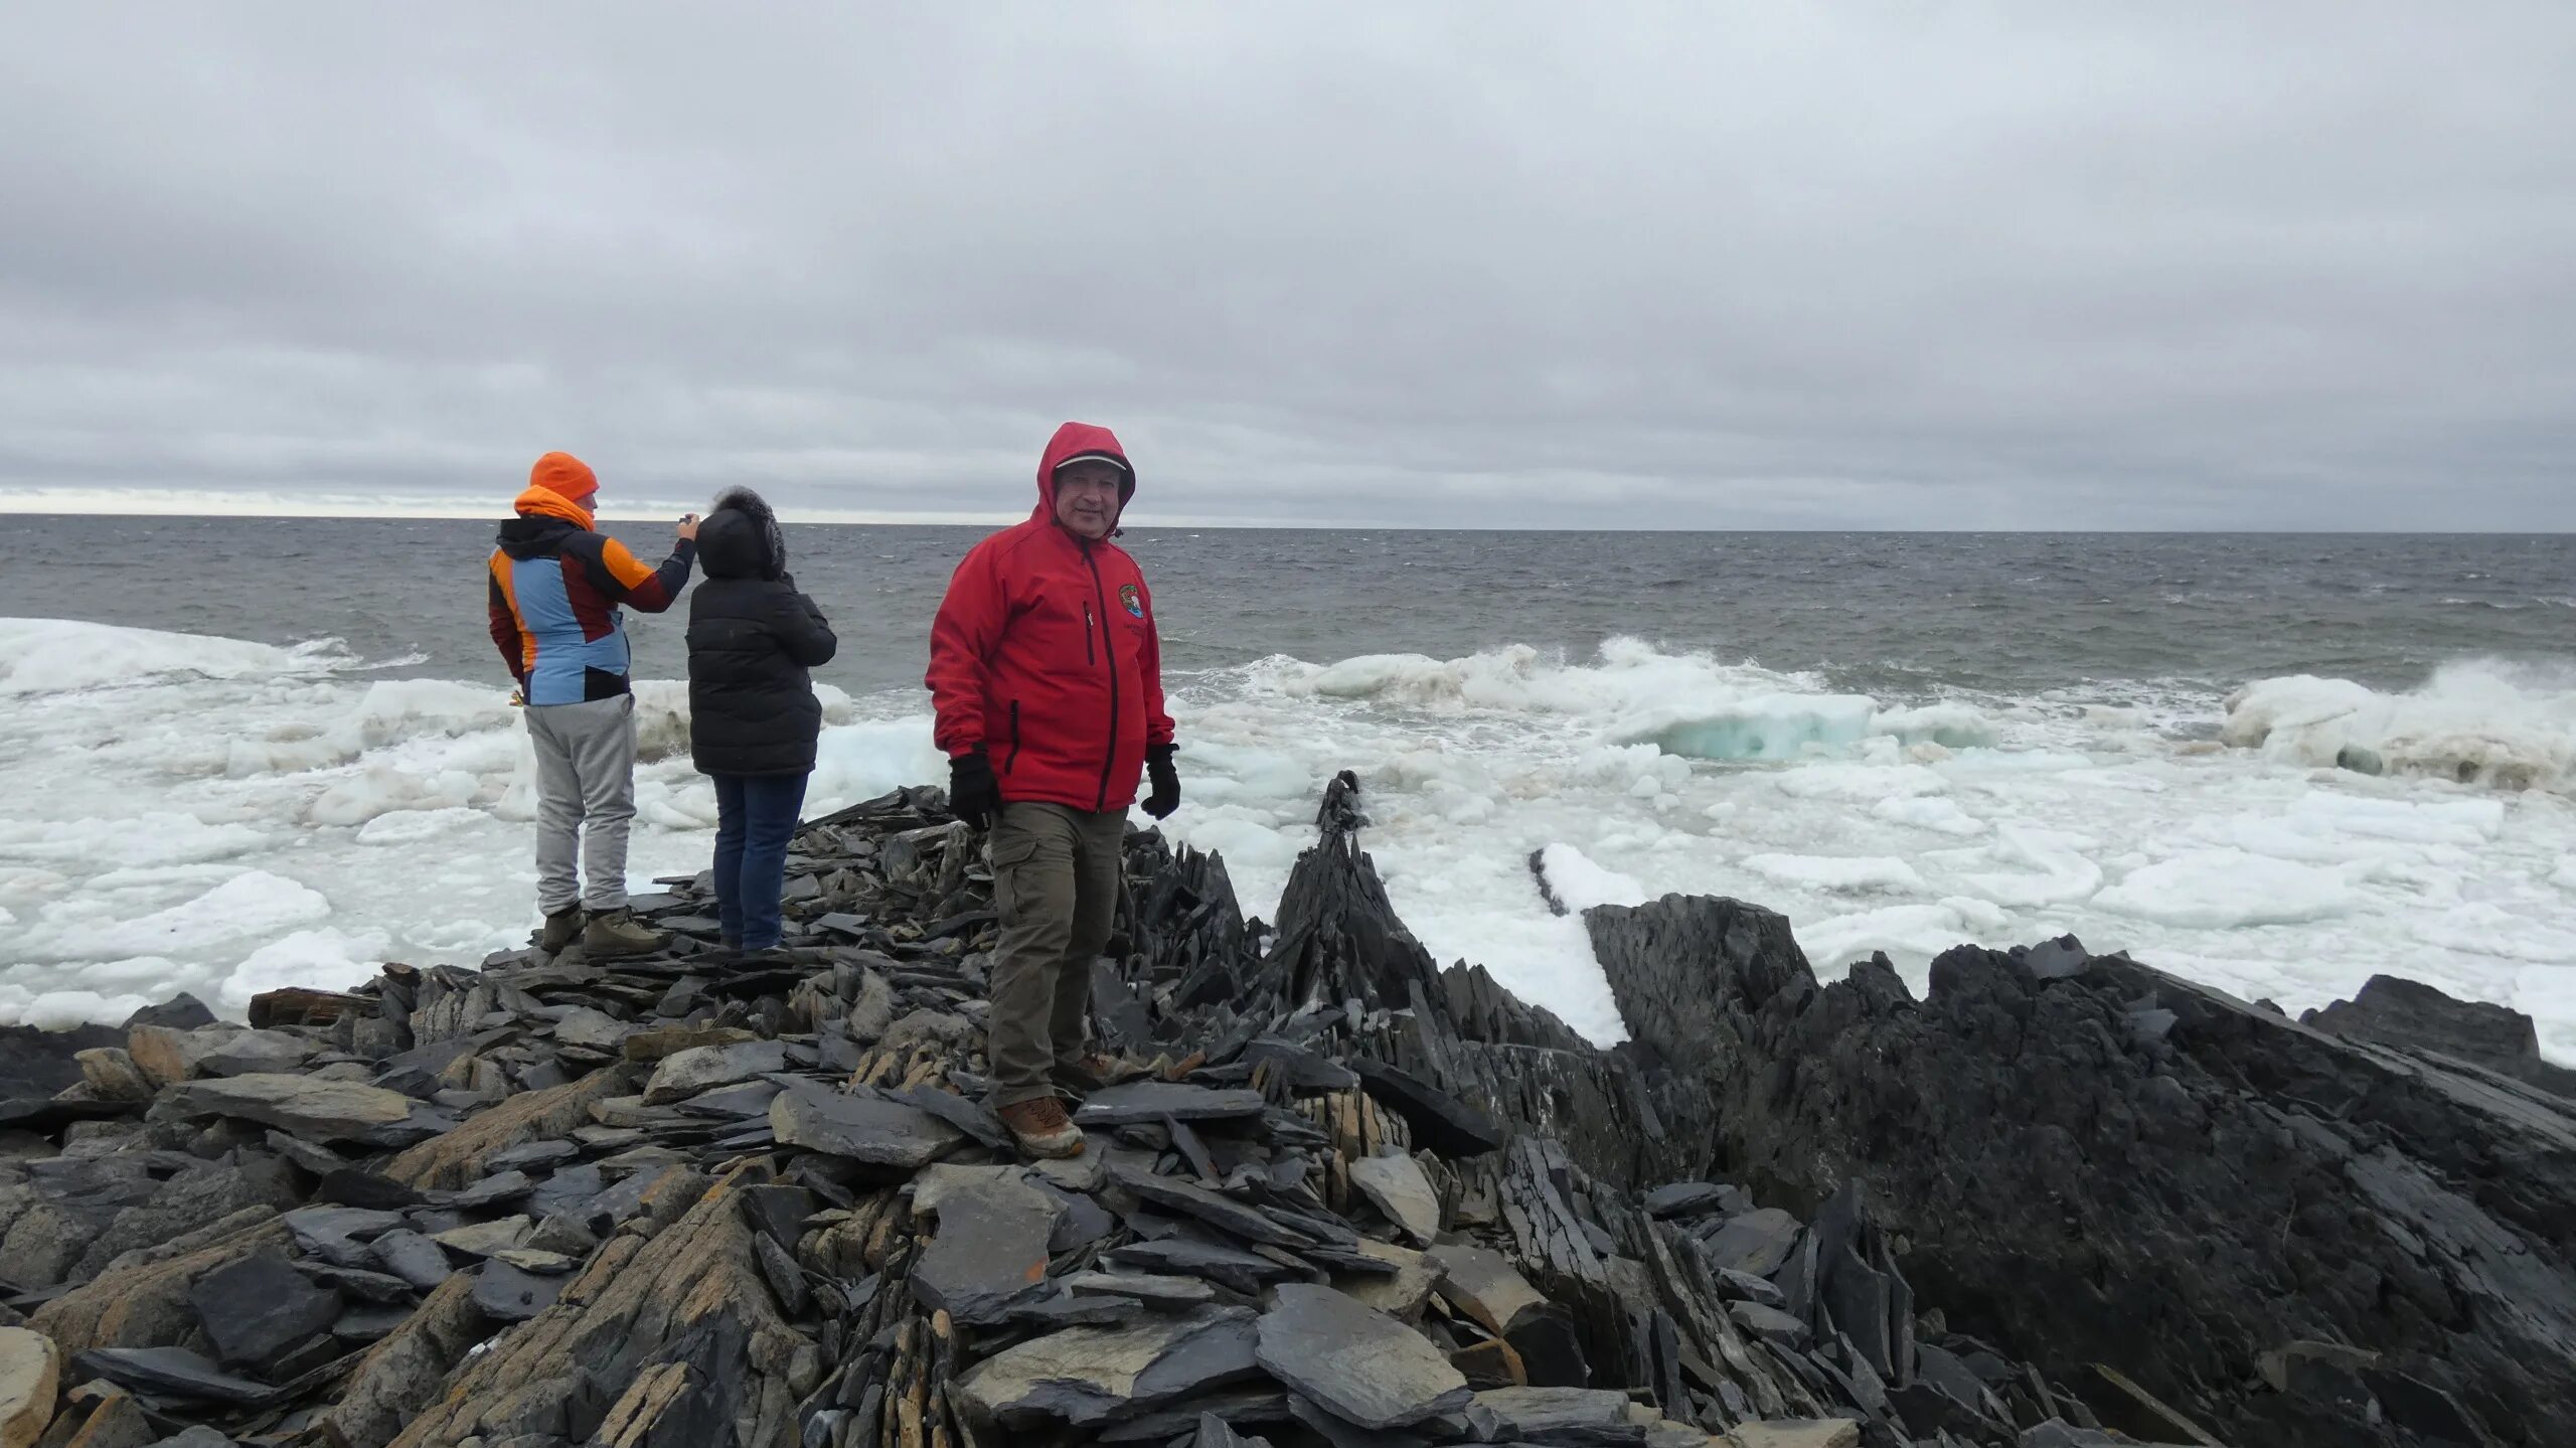
M1133 495L1108 428L1056 428L1038 510L966 554L930 626L948 801L992 830L992 1103L1033 1157L1082 1154L1059 1087L1095 1085L1105 1067L1084 1056L1082 1020L1139 773L1154 781L1146 814L1180 809L1154 595L1110 541Z

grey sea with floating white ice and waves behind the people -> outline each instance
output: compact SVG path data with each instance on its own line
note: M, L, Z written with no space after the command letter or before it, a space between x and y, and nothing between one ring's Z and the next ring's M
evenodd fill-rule
M0 1020L242 1010L536 922L489 531L10 520ZM644 554L665 531L613 526ZM809 809L943 781L956 528L791 528L842 636ZM2576 1062L2576 544L2372 536L1157 533L1185 804L1270 915L1321 781L1443 961L1597 1041L1577 912L1790 917L1917 987L2076 933L2290 1010L2396 971ZM685 611L685 603L683 603ZM683 616L631 616L631 873L706 863ZM1139 822L1144 822L1139 817Z

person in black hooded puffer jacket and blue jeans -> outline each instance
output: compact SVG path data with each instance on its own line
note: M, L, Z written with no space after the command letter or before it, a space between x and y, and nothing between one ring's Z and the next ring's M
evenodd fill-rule
M814 773L822 703L806 670L832 662L832 626L788 577L778 515L732 487L698 523L706 582L688 600L688 750L716 781L716 917L724 943L770 951L788 837Z

